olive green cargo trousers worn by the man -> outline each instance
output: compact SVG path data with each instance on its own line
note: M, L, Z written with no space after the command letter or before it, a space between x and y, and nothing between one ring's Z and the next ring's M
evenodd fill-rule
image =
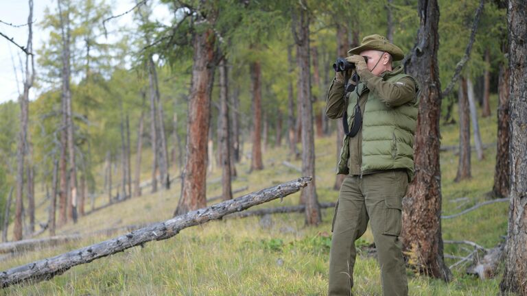
M408 188L406 171L389 170L370 175L347 175L340 187L333 217L329 255L329 295L351 295L355 240L368 220L381 268L385 296L408 295L402 243L402 198Z

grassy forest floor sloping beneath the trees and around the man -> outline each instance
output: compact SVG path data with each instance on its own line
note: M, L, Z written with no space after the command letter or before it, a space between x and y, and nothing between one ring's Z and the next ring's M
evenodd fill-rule
M493 110L496 110L495 102L494 96ZM457 115L455 109L454 114ZM454 118L457 119L457 116ZM490 198L488 193L493 186L496 153L496 121L495 113L479 119L483 143L489 148L484 151L484 160L478 161L475 152L471 154L471 180L455 183L458 156L455 151L441 153L443 215L455 214ZM441 145L458 145L457 125L441 125L441 134ZM250 147L246 145L244 151L250 151ZM244 158L237 164L239 177L233 182L233 190L248 186L244 192L248 193L299 177L300 173L282 164L284 160L301 167L299 160L289 159L285 146L267 148L263 171L249 174L249 161ZM333 190L335 166L334 134L316 138L316 182L321 202L336 201L338 198L338 191ZM221 193L219 177L219 169L209 174L207 196ZM146 171L143 180L148 180ZM75 225L65 225L58 229L57 234L89 233L108 227L170 219L178 204L180 182L176 180L170 190L154 194L148 191L150 189L145 188L141 197L89 214ZM235 197L242 194L238 193ZM271 201L259 208L295 205L298 199L299 194L296 193L285 197L282 202ZM95 199L95 206L102 206L107 201L107 195L101 195ZM86 204L89 210L89 201ZM323 210L322 215L323 223L316 227L305 227L303 214L297 213L275 214L264 221L261 217L211 221L187 228L169 240L148 243L144 247L73 267L49 281L5 288L0 294L326 295L333 208ZM43 206L37 212L37 220L45 221L46 217L46 207ZM460 217L443 220L443 239L472 240L486 248L494 247L504 240L507 217L507 203L483 206ZM47 235L45 232L41 236ZM106 239L108 236L88 236L65 245L27 251L1 260L0 270ZM368 230L356 245L362 249L370 243L373 243L373 236ZM470 246L445 244L445 254L467 256L472 250ZM456 261L446 259L449 265ZM408 269L410 295L497 295L501 273L495 279L482 281L466 275L466 267L462 264L454 267L454 279L449 284L417 275ZM360 251L354 282L355 295L382 295L379 267L367 251Z

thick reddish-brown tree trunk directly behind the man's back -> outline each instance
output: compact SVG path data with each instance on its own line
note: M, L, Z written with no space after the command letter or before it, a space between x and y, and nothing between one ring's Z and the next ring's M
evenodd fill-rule
M448 281L452 273L443 258L441 238L441 168L439 162L439 118L441 82L439 8L436 0L419 0L420 27L408 72L422 87L414 143L415 176L403 199L403 250L416 260L414 267L432 277Z

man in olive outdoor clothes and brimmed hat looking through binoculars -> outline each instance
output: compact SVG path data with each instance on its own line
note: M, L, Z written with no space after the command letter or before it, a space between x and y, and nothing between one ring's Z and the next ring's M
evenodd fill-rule
M393 69L403 51L377 34L348 51L359 76L345 94L337 72L327 95L326 114L344 116L338 173L346 174L333 217L329 262L329 295L351 295L354 241L368 220L377 249L384 295L408 295L401 234L402 198L414 173L413 141L417 122L417 82Z

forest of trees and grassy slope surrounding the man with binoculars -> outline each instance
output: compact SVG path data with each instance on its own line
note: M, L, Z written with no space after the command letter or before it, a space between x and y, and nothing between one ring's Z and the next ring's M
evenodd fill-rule
M333 63L380 34L420 88L410 295L527 295L526 1L27 4L0 13L2 294L327 295Z

